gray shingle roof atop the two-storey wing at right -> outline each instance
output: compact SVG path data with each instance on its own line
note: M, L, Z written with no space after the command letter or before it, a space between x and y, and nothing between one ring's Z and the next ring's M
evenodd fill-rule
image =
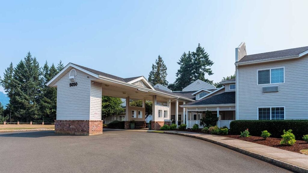
M255 60L262 60L262 59L269 59L269 58L293 56L293 55L298 55L302 52L305 52L306 50L308 50L308 46L298 47L298 48L293 48L293 49L286 49L286 50L278 50L274 52L266 52L266 53L261 53L261 54L245 55L238 62L247 62L247 61L255 61Z

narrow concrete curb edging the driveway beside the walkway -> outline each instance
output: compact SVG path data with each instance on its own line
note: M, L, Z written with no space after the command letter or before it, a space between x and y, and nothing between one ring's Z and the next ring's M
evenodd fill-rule
M216 140L213 140L213 139L208 139L208 138L204 138L204 137L201 137L201 136L195 136L195 135L191 135L191 134L187 134L187 133L184 134L184 133L177 133L177 132L171 132L171 131L164 131L164 133L173 134L173 135L182 135L182 136L202 139L202 140L205 140L205 141L215 143L217 145L229 148L231 150L243 153L245 155L249 155L249 156L252 156L254 158L264 160L266 162L269 162L269 163L272 163L274 165L289 169L291 171L295 171L295 172L299 172L299 173L308 173L308 169L306 169L304 167L300 167L300 166L297 166L297 165L293 165L291 163L283 162L283 161L278 160L278 159L274 159L274 158L271 158L271 157L268 157L268 156L265 156L265 155L261 155L261 154L258 154L258 153L252 152L252 151L248 151L248 150L245 150L245 149L240 148L240 147L235 147L235 146L230 145L230 144L222 143L222 142L219 142L219 141L216 141Z

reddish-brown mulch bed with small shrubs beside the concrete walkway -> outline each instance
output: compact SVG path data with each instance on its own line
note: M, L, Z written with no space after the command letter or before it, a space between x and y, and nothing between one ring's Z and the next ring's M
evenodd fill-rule
M243 141L258 143L270 147L280 148L283 150L293 151L296 153L300 153L300 150L308 149L308 143L301 140L296 140L296 143L293 146L289 145L281 145L279 138L267 138L266 140L259 136L250 136L250 137L239 137L239 135L224 135L225 137L240 139Z

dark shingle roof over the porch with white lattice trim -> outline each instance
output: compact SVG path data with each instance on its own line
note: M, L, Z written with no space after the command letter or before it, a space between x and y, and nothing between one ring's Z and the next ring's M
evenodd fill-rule
M201 100L190 102L185 105L197 106L197 105L216 105L216 104L235 104L235 92L224 92L209 98L204 98Z

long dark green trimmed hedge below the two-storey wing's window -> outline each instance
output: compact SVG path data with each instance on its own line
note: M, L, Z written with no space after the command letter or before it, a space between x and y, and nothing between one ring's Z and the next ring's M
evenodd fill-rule
M273 138L281 138L283 130L291 129L295 138L302 140L303 135L308 134L308 120L234 120L230 123L231 135L240 135L245 129L249 129L252 136L260 136L267 130Z

